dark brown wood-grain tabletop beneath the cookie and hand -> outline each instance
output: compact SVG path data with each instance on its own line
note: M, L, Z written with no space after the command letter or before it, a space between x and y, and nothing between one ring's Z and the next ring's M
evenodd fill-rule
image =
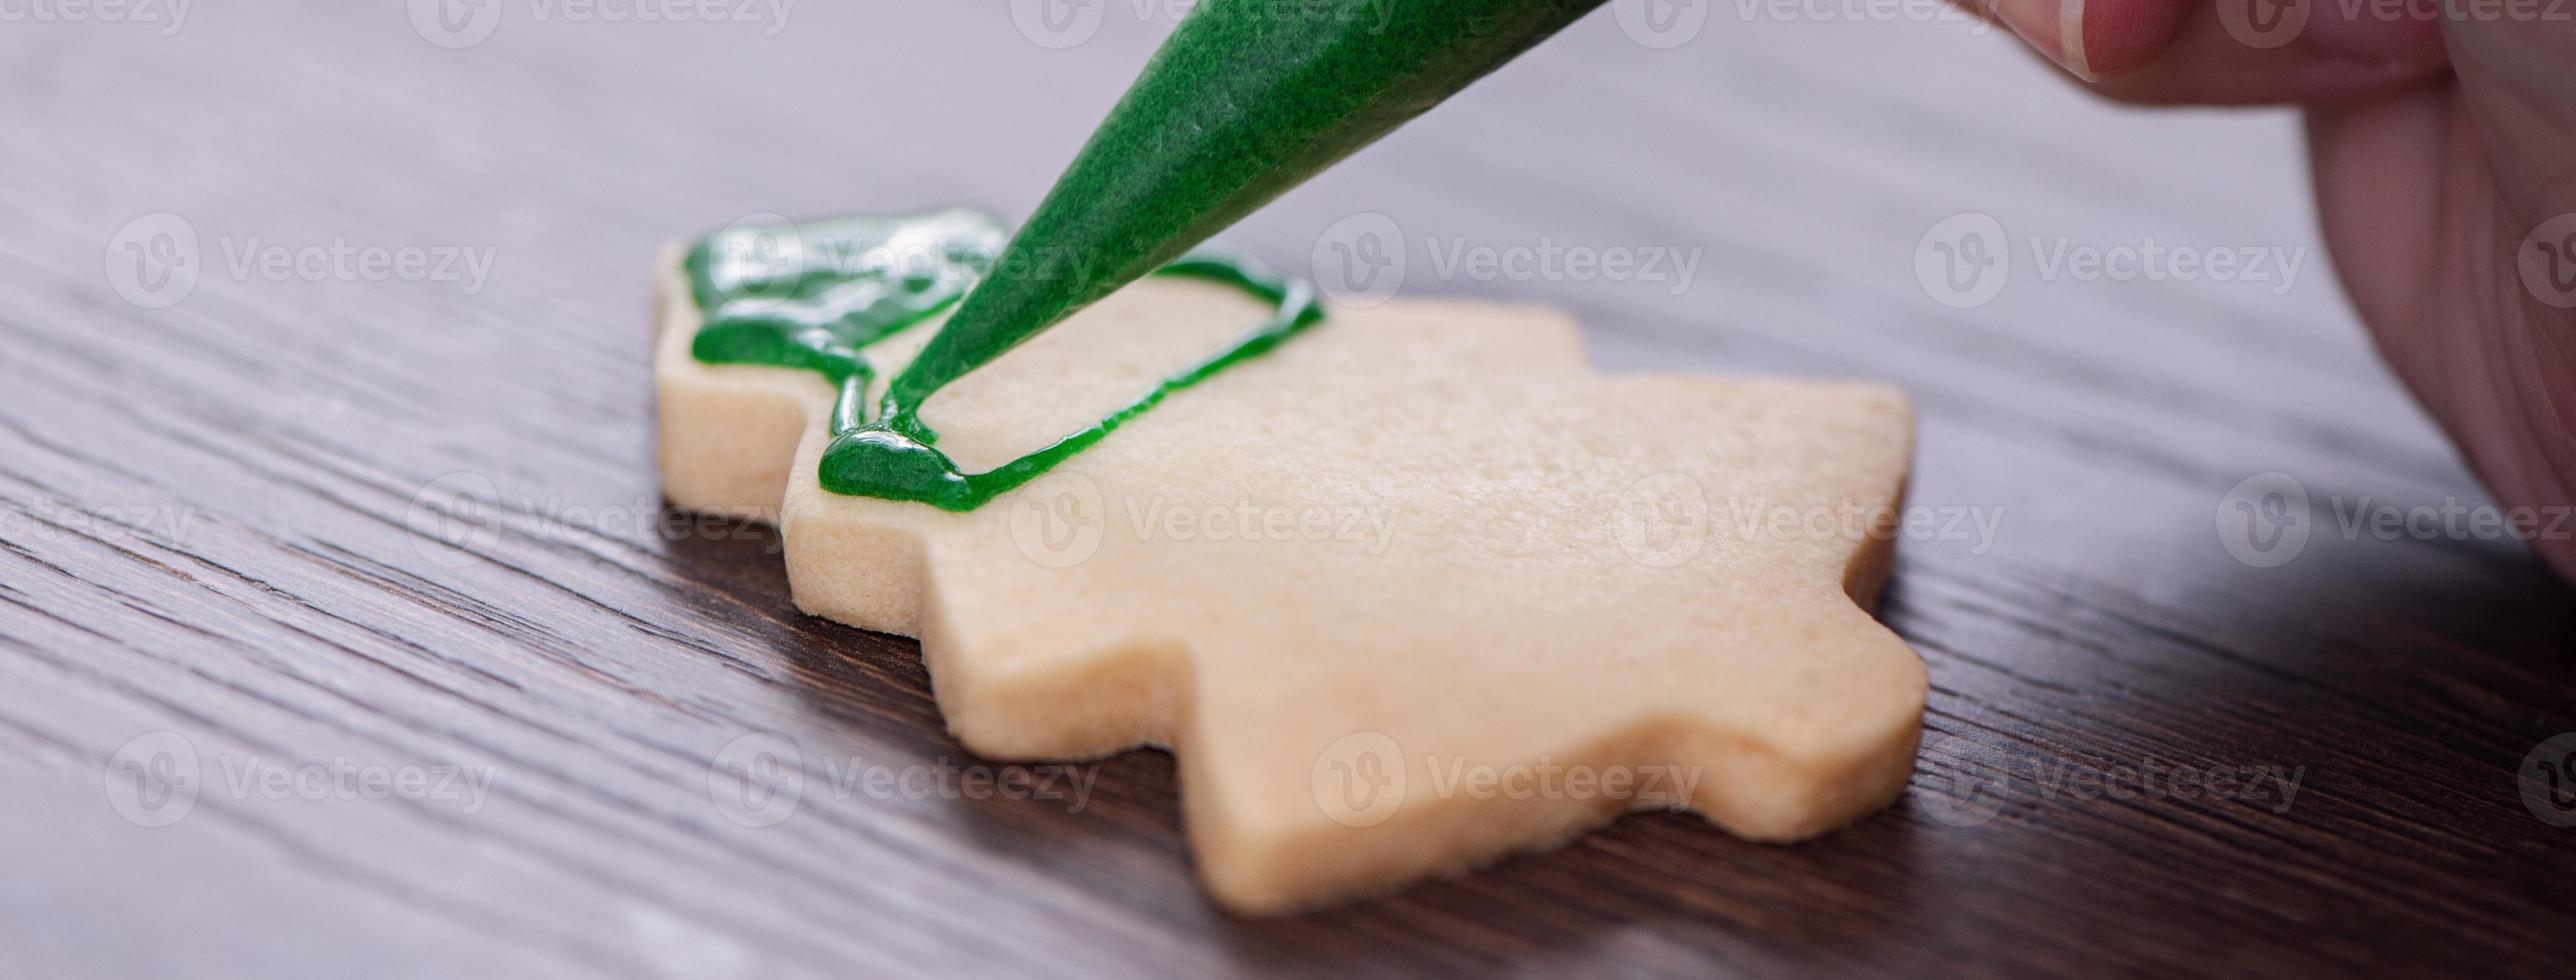
M2357 333L2295 119L2107 111L1947 18L1605 10L1229 235L1303 268L1383 214L1406 294L1564 304L1610 369L1904 384L1893 810L1236 921L1167 756L1056 771L1072 815L835 787L997 763L912 642L791 609L773 534L667 524L647 266L757 211L1025 214L1170 13L781 5L0 23L0 975L2566 967L2576 830L2517 774L2576 730L2576 603L2496 534L2372 534L2486 498ZM2151 242L2300 263L2084 271ZM1445 260L1540 245L1703 263ZM711 781L755 732L806 776L775 825Z

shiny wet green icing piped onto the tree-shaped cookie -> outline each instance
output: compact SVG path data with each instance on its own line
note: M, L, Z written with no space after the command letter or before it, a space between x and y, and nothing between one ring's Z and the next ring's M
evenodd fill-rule
M824 490L974 511L1097 444L1172 392L1262 356L1324 320L1324 307L1309 284L1270 276L1239 255L1188 253L1154 273L1244 289L1273 307L1270 317L1231 346L1164 377L1097 426L989 472L961 472L933 446L938 433L920 420L922 400L938 387L912 397L896 397L889 387L878 413L873 418L866 413L868 389L876 384L868 348L933 320L961 297L1054 273L997 260L1002 240L997 219L963 209L752 224L706 235L685 255L690 297L703 315L690 353L706 364L817 371L840 387L832 405L832 444L822 454ZM938 346L938 335L930 343Z

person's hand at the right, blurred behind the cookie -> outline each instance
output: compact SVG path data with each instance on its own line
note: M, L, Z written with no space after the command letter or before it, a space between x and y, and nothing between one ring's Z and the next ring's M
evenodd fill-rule
M2576 31L2561 0L1994 0L2128 103L2298 103L2380 353L2522 521L2576 505ZM2530 508L2530 511L2522 511ZM2576 578L2576 542L2532 542Z

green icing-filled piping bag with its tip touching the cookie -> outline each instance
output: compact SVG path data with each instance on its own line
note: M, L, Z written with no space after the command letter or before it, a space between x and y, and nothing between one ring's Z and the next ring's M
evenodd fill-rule
M886 389L891 418L1378 142L1602 0L1203 0L992 276Z

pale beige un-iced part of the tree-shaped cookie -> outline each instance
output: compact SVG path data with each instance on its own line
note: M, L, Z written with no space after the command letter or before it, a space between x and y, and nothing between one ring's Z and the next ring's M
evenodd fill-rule
M1170 748L1229 908L1386 890L1631 807L1795 841L1911 771L1924 668L1865 611L1911 454L1893 389L1602 377L1556 312L1337 307L951 513L824 493L832 384L696 361L677 255L659 294L670 500L775 518L799 609L920 637L976 753ZM992 467L1262 312L1139 281L925 420Z

